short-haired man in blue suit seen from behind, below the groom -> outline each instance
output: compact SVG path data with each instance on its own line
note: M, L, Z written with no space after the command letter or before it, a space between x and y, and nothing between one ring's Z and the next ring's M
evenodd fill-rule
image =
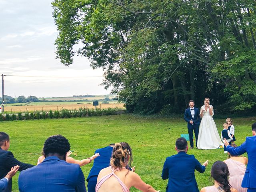
M178 154L167 157L162 170L162 179L169 179L166 192L199 192L195 170L203 173L208 160L201 165L194 155L188 155L188 142L183 137L175 145Z

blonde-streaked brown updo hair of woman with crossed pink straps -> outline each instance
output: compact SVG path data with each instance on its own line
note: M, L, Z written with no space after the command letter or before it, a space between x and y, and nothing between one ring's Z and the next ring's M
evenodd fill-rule
M113 148L110 165L116 169L126 167L128 164L131 166L131 162L132 149L130 148L129 144L126 142L116 143Z

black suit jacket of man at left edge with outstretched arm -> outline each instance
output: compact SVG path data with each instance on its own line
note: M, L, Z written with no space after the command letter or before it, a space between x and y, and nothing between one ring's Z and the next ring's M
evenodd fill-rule
M27 168L33 167L34 165L22 163L14 158L12 152L2 150L0 148L0 179L4 178L7 173L11 170L12 167L19 165L19 171L25 170ZM8 187L3 190L3 192L11 192L12 191L12 179L8 182Z

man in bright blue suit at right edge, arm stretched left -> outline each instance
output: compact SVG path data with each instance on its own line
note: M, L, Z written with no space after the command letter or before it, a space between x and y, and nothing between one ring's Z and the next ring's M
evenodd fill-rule
M224 141L226 150L231 155L238 156L247 152L248 165L242 181L242 187L248 188L247 192L256 192L256 123L252 124L252 135L252 137L246 137L245 142L237 148L230 146L226 139Z

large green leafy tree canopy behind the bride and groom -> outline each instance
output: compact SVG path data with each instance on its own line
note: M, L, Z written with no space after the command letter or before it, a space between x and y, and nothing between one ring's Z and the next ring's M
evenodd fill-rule
M129 111L178 112L204 97L218 111L256 108L254 0L54 0L57 58L104 69Z

